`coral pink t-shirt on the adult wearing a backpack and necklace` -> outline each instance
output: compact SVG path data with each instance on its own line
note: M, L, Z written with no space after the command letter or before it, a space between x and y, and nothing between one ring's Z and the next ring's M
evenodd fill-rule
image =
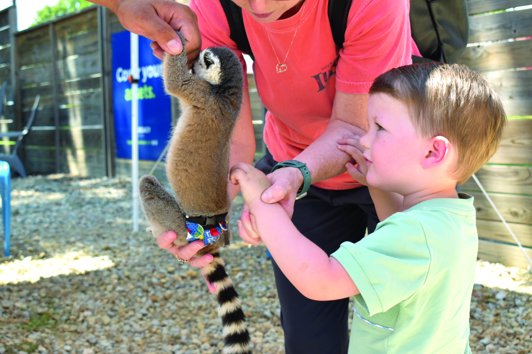
M368 93L376 76L410 64L411 55L418 54L410 35L408 0L353 0L346 40L339 51L332 39L327 4L328 0L306 0L297 14L265 24L243 11L255 56L257 91L268 109L264 141L276 161L293 159L323 133L336 90ZM198 16L202 47L235 49L245 71L242 53L229 38L229 24L220 2L192 0L190 8ZM277 73L277 64L282 63L288 49L288 69ZM347 172L314 185L326 189L360 186Z

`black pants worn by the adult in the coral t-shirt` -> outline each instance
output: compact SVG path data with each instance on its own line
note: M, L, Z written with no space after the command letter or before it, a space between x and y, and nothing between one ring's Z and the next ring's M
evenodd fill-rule
M267 153L256 168L269 174L276 165ZM356 242L365 229L373 232L378 223L367 187L331 191L311 186L295 202L292 222L308 239L328 255L344 241ZM272 259L281 304L286 354L346 354L349 299L315 301L304 297L282 274Z

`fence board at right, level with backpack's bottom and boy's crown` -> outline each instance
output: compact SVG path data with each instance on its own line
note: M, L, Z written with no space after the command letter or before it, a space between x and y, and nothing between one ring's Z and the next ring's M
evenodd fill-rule
M467 47L459 61L476 71L532 66L532 40Z

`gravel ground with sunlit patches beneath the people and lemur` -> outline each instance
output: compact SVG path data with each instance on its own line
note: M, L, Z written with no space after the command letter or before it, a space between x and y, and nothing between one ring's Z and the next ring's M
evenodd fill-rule
M200 274L146 232L132 232L130 205L126 178L12 180L12 255L0 257L0 354L219 352L220 321ZM231 225L241 208L237 198ZM265 247L234 235L222 257L256 352L284 353ZM479 260L471 301L473 353L530 352L530 271Z

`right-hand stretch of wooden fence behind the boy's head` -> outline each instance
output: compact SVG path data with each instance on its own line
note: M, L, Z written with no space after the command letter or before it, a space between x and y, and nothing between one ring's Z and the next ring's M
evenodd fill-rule
M532 0L469 0L470 45L460 63L500 92L509 124L501 146L476 176L532 257ZM521 8L523 7L523 8ZM527 267L525 255L473 179L479 258Z

